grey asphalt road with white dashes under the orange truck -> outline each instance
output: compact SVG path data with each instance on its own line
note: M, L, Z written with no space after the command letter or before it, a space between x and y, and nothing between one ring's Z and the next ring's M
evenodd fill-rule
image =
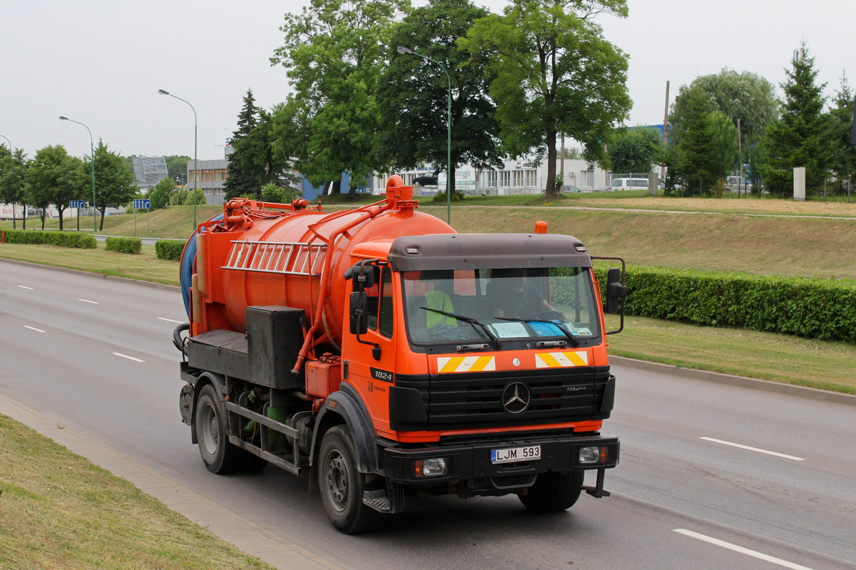
M178 413L185 319L174 289L0 263L0 391L346 569L856 568L851 406L615 366L612 497L431 498L348 537L306 478L205 470Z

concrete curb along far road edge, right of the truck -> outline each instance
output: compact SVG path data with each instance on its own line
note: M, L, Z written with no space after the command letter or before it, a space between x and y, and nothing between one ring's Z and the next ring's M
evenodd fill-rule
M843 403L849 406L856 406L856 395L853 394L819 390L817 388L809 388L807 386L798 386L793 384L782 384L781 382L746 378L745 376L734 376L732 374L706 372L704 370L696 370L695 368L685 368L673 366L671 364L641 361L635 358L626 358L624 356L609 356L609 361L613 364L617 364L618 366L636 368L637 370L647 370L649 372L668 374L671 376L683 376L685 378L715 382L716 384L740 386L741 388L751 388L752 390L763 390L776 392L777 394L788 394L788 396L820 400L822 402Z

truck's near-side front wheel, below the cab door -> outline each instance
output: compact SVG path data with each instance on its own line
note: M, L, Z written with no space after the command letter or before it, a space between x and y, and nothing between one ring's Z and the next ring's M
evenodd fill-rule
M347 428L334 426L324 434L319 457L318 487L333 526L346 534L380 528L385 517L363 503L363 491L373 491L383 479L374 485L366 483L366 474L357 470L356 451Z

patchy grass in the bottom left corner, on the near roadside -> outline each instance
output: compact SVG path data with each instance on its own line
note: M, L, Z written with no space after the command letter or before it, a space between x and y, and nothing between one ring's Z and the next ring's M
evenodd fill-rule
M272 568L4 415L0 544L0 568Z

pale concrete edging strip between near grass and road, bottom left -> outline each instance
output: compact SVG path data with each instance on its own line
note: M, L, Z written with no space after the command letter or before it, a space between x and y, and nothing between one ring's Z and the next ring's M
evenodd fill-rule
M117 453L80 432L62 426L53 418L17 402L0 392L0 414L7 415L51 438L72 453L103 467L110 473L127 479L140 491L163 502L168 508L183 514L226 542L234 544L249 555L283 570L342 570L330 561L313 555L300 546L266 531L239 514L223 508L187 487L169 479L154 469Z

